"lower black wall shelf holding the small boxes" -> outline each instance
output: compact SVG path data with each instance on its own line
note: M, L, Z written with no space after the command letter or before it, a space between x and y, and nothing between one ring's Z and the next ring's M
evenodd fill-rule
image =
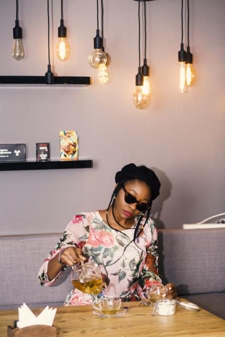
M92 160L52 160L52 161L4 161L0 162L0 171L24 169L90 168Z

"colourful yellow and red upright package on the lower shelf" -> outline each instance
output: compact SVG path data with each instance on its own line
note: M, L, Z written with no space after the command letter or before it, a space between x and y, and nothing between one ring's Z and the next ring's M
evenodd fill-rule
M59 131L60 160L78 160L76 131Z

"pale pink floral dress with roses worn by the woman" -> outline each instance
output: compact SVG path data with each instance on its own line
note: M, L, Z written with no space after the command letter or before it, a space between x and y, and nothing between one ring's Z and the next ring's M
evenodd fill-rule
M161 283L157 271L157 231L148 219L141 234L133 241L138 221L131 228L118 231L106 224L99 211L78 213L69 222L57 246L51 250L41 266L38 279L41 285L53 284L67 266L62 266L51 281L47 278L48 261L68 246L82 248L89 262L96 262L110 296L123 301L139 300L142 289ZM143 220L144 223L144 220ZM142 224L143 224L142 223ZM101 294L102 295L102 294ZM76 288L68 293L64 305L90 304L92 297Z

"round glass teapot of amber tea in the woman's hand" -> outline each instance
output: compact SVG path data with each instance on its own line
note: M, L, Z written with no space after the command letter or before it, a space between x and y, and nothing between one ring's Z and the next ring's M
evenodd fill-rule
M78 290L98 295L106 283L102 281L101 270L97 263L86 262L72 266L71 281Z

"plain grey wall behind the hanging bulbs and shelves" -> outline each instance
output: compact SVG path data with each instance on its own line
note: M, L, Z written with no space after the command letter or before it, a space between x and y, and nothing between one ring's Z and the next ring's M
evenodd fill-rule
M180 227L224 211L224 0L190 0L190 45L197 80L178 92L179 0L147 3L147 59L152 100L132 102L137 72L137 2L104 0L110 82L97 83L88 65L96 29L96 1L64 1L71 56L52 55L57 75L91 76L81 88L0 87L0 143L49 141L59 158L58 131L75 129L79 158L93 168L0 172L0 234L61 232L78 211L107 206L114 174L126 163L153 167L161 194L152 207L158 227ZM25 57L10 56L15 1L0 1L0 74L43 75L47 70L46 0L20 0ZM60 1L53 1L53 48ZM185 41L186 42L186 41Z

